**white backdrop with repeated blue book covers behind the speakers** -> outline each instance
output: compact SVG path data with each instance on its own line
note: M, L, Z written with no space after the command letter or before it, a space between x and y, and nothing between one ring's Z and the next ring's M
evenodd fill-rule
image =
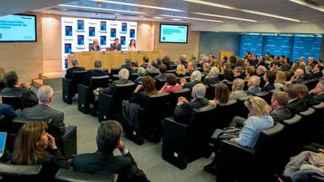
M101 51L106 51L119 38L121 51L127 51L127 45L137 35L137 22L62 17L61 26L62 70L67 69L68 54L89 51L94 39L99 40Z

